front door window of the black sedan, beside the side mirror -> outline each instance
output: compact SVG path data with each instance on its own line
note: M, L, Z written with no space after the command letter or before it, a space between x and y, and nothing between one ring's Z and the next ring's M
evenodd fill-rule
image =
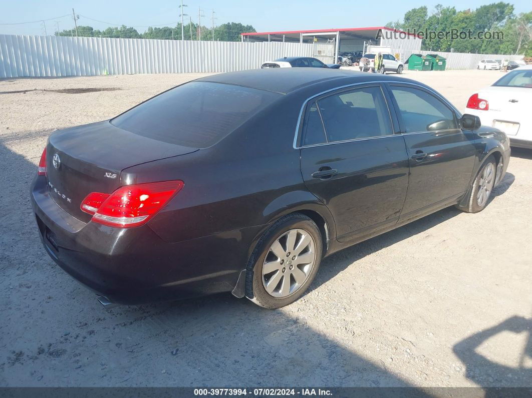
M428 92L403 86L390 86L406 133L458 129L458 123L442 101Z

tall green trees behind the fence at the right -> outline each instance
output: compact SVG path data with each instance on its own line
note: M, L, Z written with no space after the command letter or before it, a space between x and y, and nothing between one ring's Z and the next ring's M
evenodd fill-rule
M471 30L473 35L477 32L500 31L504 36L502 39L423 38L421 48L444 52L452 50L458 53L532 56L532 11L516 15L510 3L492 3L480 6L476 10L463 11L438 4L430 15L427 7L422 6L406 12L403 21L389 22L386 26L403 31Z

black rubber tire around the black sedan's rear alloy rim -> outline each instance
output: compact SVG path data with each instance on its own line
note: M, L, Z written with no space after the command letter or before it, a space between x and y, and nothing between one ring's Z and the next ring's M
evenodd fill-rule
M288 231L296 228L298 230L304 230L313 239L315 249L314 263L306 276L305 282L297 290L287 297L273 297L264 287L262 267L265 259L269 255L271 245ZM321 233L312 219L301 213L293 213L281 217L262 235L248 261L246 271L246 297L258 306L270 309L284 307L293 303L305 293L314 280L314 276L320 266L322 251L323 243ZM288 278L289 281L292 281L291 276L288 276Z

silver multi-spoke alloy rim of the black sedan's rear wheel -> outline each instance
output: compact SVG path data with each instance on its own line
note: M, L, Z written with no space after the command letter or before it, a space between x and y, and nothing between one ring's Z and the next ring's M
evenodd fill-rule
M285 298L304 285L316 260L311 234L294 228L271 244L262 264L262 284L268 294Z

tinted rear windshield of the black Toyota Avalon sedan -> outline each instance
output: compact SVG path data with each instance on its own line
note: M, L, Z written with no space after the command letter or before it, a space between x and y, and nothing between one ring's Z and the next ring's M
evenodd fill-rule
M190 82L111 120L120 129L176 145L206 148L281 95L211 82Z

